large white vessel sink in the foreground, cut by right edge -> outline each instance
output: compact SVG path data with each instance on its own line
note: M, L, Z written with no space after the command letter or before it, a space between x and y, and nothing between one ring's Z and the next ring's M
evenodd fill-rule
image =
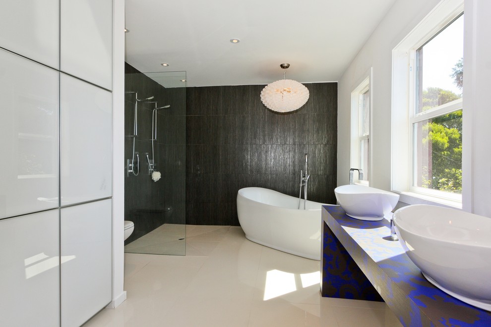
M415 205L393 219L407 255L433 285L491 311L491 218Z

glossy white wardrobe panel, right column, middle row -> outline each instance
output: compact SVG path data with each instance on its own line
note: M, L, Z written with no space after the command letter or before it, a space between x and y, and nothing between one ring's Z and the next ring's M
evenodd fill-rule
M61 206L112 194L112 94L61 74Z

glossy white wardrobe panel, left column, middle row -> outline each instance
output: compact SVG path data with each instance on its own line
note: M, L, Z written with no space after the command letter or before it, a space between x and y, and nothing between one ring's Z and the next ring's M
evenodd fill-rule
M58 207L59 75L0 50L0 218Z

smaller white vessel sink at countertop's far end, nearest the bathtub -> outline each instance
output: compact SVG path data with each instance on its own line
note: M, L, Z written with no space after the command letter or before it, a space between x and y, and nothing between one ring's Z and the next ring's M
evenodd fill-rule
M364 185L343 185L334 189L346 215L362 220L382 220L399 201L399 195Z

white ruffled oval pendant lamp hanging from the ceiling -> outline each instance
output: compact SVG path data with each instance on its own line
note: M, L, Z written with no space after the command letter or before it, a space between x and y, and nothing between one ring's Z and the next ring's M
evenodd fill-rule
M286 69L288 63L280 65ZM280 79L270 83L261 91L261 101L268 109L277 112L289 112L300 109L308 100L308 89L291 79Z

